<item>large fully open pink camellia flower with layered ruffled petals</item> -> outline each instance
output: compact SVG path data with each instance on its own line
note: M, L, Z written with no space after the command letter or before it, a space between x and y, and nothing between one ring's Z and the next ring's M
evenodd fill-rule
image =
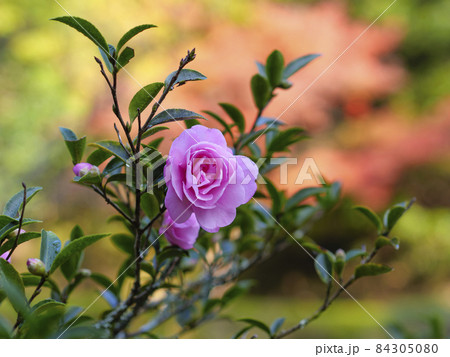
M255 163L234 155L219 130L195 125L170 148L164 168L167 210L177 223L194 213L205 231L217 232L253 197L257 176Z

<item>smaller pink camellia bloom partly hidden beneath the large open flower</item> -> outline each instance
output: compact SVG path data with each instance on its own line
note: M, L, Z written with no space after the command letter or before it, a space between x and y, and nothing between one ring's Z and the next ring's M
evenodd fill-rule
M159 229L159 234L164 234L171 244L188 250L194 246L199 231L200 225L193 213L185 222L176 223L166 211L161 228Z

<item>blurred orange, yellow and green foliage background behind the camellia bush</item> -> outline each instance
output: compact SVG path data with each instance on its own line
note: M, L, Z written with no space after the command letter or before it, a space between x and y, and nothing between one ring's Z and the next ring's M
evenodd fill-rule
M311 236L330 249L357 247L372 233L351 210L354 203L382 211L417 197L396 227L401 250L381 257L395 272L362 281L351 293L398 336L445 334L450 325L450 2L397 1L323 75L391 1L60 3L96 24L113 43L137 24L158 25L133 40L137 57L129 73L121 73L124 105L141 84L165 78L185 51L196 47L192 68L208 80L180 88L166 105L200 112L227 101L240 107L251 125L248 83L256 72L254 60L264 60L275 48L288 61L322 53L293 77L294 90L280 93L268 108L311 133L312 140L298 146L300 162L314 157L327 179L343 183L341 206ZM99 198L70 182L70 159L58 126L87 134L90 141L112 137L114 131L111 103L93 60L98 53L82 36L48 21L62 15L55 1L0 3L0 202L19 191L21 181L43 186L45 194L29 207L30 215L65 240L77 222L89 234L118 228L104 223L110 210ZM165 150L179 132L173 126ZM289 169L288 192L299 189L297 174ZM102 244L95 256L88 250L85 265L112 275L121 253L109 242ZM252 294L227 312L267 322L284 314L290 324L314 310L323 288L310 259L294 248L250 272L256 281ZM36 251L31 244L19 248L14 264L25 269L26 258ZM91 289L86 285L80 296L86 305L96 294ZM223 337L228 330L231 336L236 326L225 316L189 336ZM345 296L297 336L384 337Z

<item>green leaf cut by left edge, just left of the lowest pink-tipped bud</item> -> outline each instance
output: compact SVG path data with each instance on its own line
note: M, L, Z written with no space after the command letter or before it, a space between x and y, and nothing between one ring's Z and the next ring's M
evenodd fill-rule
M25 288L19 273L6 260L0 259L0 301L4 296L16 312L23 314L28 311Z

